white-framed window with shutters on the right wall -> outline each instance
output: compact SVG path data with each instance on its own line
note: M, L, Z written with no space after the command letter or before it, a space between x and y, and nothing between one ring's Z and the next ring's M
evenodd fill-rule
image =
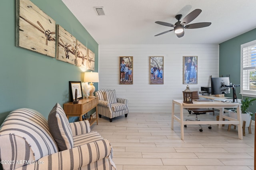
M256 96L256 40L241 45L241 94Z

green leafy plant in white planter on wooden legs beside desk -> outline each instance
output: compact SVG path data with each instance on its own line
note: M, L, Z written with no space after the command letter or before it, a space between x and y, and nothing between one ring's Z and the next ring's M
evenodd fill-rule
M250 98L245 98L244 100L241 101L241 119L242 119L242 122L243 121L246 121L246 125L245 127L249 127L250 125L250 120L252 118L252 115L253 113L248 111L249 107L252 106L252 102L255 101L255 99L250 99ZM229 111L229 115L230 117L234 118L234 119L237 119L237 115L236 115L236 110L235 109L231 109L231 110L228 110Z

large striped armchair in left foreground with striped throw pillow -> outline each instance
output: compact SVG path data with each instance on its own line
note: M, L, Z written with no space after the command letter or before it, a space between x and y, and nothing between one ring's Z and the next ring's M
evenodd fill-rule
M54 116L58 122L52 121ZM48 121L33 109L12 111L0 126L2 168L116 170L109 141L98 132L91 132L87 120L68 123L65 117L59 104Z

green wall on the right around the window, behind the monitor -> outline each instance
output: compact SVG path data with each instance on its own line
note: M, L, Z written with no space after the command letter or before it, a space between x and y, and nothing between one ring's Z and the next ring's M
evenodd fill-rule
M256 39L256 29L234 37L220 44L220 76L230 74L232 84L240 84L240 58L241 45ZM232 90L230 91L232 92ZM237 98L242 98L240 87L236 88ZM232 94L229 94L232 97ZM256 103L250 107L252 113L256 112ZM255 120L255 115L252 117Z

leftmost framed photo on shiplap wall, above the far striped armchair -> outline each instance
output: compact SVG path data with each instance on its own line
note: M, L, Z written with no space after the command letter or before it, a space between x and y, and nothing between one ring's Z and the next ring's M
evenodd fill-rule
M133 57L119 57L119 84L133 84Z

